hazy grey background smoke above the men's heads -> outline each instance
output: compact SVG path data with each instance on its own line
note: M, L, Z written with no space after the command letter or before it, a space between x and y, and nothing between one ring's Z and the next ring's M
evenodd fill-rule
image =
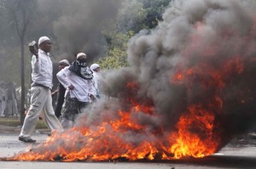
M84 52L89 61L101 57L108 46L102 31L116 18L121 2L117 0L38 1L42 11L52 13L58 51L66 59ZM51 10L49 10L51 8ZM61 52L60 52L61 51Z

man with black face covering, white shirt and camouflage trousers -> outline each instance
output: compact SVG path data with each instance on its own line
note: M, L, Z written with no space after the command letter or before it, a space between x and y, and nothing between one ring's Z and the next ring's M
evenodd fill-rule
M61 124L64 128L73 127L77 115L84 113L86 106L95 99L93 73L87 66L86 59L86 54L79 53L71 66L57 73L59 82L67 87L61 111Z

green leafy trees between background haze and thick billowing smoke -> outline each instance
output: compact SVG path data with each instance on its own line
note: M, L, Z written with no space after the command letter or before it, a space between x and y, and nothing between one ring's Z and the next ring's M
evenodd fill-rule
M107 33L110 48L105 58L99 60L103 69L119 68L128 65L127 43L129 39L143 29L154 29L161 14L172 0L127 1L119 11L116 27ZM105 32L106 33L106 32Z

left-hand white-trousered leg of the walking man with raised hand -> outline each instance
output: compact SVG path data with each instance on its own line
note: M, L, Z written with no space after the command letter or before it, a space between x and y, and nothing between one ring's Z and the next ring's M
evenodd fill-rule
M44 87L32 87L31 106L26 114L25 121L20 131L20 137L31 138L32 132L38 123L39 115L46 101ZM22 140L21 140L22 141Z

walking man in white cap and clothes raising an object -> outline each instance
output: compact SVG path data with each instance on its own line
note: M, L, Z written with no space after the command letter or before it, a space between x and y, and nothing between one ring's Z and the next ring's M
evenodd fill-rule
M49 58L49 51L51 50L49 37L40 37L38 45L38 54L32 56L31 106L26 114L19 137L19 140L25 143L36 142L31 136L40 115L51 132L62 129L61 122L53 110L50 92L53 86L53 67Z

